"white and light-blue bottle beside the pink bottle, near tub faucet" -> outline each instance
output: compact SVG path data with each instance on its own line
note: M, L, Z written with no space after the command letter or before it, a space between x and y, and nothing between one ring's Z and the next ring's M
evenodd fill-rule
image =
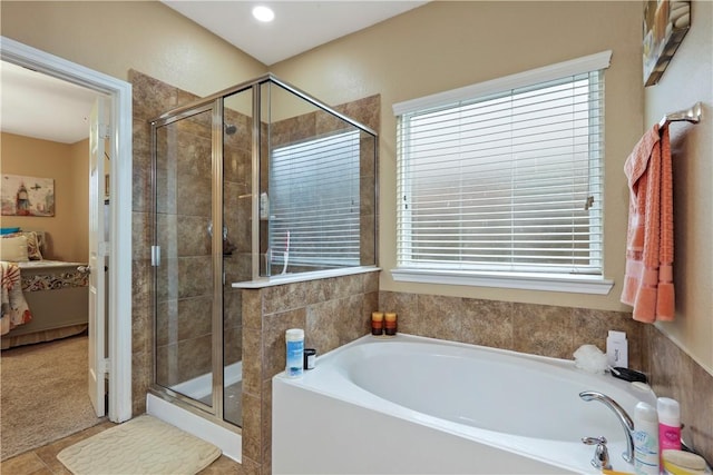
M634 472L658 475L658 415L651 405L639 402L634 408Z

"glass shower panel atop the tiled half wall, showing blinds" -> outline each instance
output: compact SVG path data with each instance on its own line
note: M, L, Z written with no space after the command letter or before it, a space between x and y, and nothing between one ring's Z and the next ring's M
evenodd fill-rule
M373 265L363 246L374 246L374 136L280 85L263 88L261 275Z

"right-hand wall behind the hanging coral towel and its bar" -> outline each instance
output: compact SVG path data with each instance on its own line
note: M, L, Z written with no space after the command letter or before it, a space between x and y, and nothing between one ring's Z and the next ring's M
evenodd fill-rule
M671 126L676 319L660 329L713 374L713 3L694 1L691 29L657 85L645 89L646 128L703 102L699 125Z

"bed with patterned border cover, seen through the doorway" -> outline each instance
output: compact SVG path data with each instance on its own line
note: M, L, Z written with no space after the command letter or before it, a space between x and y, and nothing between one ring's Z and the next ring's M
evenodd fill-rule
M9 243L4 238L2 243ZM43 235L38 239L39 249L43 239ZM2 335L0 348L50 342L87 329L89 275L80 270L85 264L41 258L16 259L13 264L20 270L22 296L31 317Z

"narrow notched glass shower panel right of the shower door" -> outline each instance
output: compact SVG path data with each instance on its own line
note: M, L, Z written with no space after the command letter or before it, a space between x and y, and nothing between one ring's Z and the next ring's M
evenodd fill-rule
M252 89L223 99L223 419L242 426L242 299L252 279Z

